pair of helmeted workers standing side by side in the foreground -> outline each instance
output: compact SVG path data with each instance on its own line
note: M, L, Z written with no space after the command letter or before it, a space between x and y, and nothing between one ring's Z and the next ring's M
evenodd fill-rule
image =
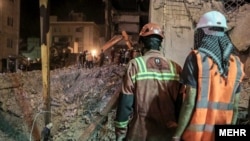
M244 71L227 28L222 13L202 15L182 68L162 55L161 27L144 25L143 55L128 62L123 77L117 141L213 141L215 125L236 124Z

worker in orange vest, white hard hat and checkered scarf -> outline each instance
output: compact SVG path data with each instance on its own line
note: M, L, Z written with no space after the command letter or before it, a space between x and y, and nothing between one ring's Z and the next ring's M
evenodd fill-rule
M225 16L210 11L195 30L180 82L185 85L175 141L213 141L214 125L236 124L243 64L233 54Z

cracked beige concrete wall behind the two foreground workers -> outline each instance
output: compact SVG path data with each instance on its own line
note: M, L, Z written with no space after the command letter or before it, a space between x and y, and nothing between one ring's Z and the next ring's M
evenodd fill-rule
M240 1L238 7L225 7L224 1L200 0L152 0L150 1L149 21L160 24L165 31L163 52L181 66L193 48L193 34L200 16L209 10L218 10L228 19L229 35L239 51L249 48L250 5ZM238 2L238 1L237 1ZM227 8L227 9L226 9ZM229 9L231 8L231 10ZM234 9L233 9L234 8ZM182 57L180 57L182 56ZM248 59L249 60L249 59ZM247 59L242 60L246 63ZM249 63L250 61L248 61ZM250 68L249 72L250 74Z

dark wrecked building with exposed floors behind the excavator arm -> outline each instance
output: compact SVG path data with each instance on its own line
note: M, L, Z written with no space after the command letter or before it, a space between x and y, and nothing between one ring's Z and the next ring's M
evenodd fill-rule
M122 31L128 34L134 49L139 49L139 32L148 23L149 1L105 0L106 39L119 36ZM125 41L114 45L115 48L127 48Z

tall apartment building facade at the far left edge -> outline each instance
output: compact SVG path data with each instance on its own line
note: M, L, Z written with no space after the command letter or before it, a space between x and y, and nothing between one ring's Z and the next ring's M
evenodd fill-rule
M20 1L0 0L0 72L5 72L8 59L18 55Z

